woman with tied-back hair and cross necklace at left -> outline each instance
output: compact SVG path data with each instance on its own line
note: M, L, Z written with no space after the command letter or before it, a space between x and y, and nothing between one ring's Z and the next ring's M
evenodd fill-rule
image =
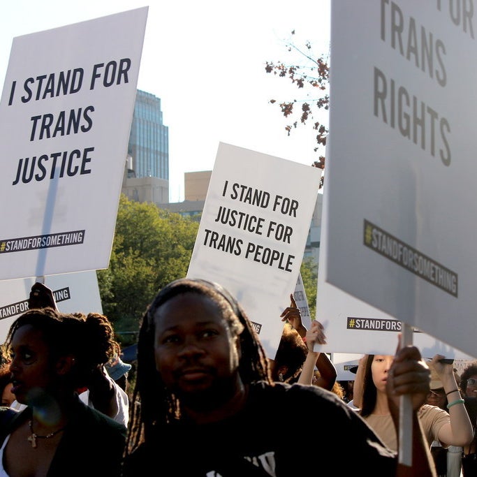
M101 315L29 309L8 330L3 351L12 392L26 406L0 422L0 475L117 477L126 428L82 403L76 390L117 349ZM0 414L10 411L2 408Z

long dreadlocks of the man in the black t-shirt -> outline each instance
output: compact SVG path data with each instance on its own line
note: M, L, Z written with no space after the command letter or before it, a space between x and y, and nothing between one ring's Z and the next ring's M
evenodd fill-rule
M154 435L156 427L177 422L181 417L179 399L166 389L161 374L156 370L154 315L161 305L184 293L197 293L210 298L221 310L232 335L240 336L239 373L243 383L266 381L272 384L265 351L237 300L225 288L210 281L189 278L172 281L159 291L142 316L126 455Z

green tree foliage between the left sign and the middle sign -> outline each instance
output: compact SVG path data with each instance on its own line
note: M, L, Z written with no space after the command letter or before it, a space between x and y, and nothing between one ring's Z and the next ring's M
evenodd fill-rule
M136 332L156 292L186 276L198 225L189 217L130 201L122 194L110 264L96 272L103 313L117 332Z

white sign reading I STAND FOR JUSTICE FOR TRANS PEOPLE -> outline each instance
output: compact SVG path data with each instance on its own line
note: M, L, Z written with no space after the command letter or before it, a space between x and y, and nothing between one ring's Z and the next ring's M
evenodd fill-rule
M313 215L321 170L219 143L187 276L242 304L274 358Z

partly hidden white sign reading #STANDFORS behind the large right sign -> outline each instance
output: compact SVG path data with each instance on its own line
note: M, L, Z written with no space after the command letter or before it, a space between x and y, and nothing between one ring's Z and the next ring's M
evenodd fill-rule
M402 321L397 320L372 305L359 300L325 281L328 256L328 186L323 193L321 222L320 266L316 293L316 319L325 328L327 344L318 345L327 353L395 354L398 335L402 333ZM319 318L318 318L319 317ZM424 358L436 354L446 358L469 359L470 355L417 329L413 332L413 344ZM477 350L474 351L477 353Z

